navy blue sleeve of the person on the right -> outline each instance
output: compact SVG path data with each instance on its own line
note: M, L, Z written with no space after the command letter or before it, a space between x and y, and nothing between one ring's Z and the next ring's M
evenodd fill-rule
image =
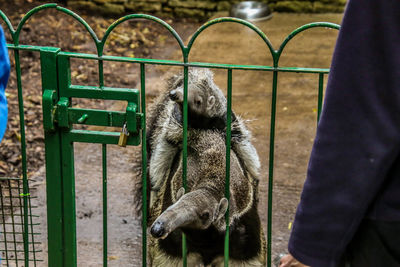
M399 149L400 1L350 0L289 252L336 266Z

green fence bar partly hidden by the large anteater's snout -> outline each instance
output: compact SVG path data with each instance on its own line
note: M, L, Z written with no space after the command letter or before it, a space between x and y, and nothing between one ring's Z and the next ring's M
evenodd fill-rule
M188 97L188 76L189 76L189 68L187 66L183 69L183 151L182 151L182 183L183 188L185 188L185 192L187 192L187 128L188 128L188 106L187 106L187 97ZM186 235L182 234L182 264L183 267L187 266L187 244L186 244Z

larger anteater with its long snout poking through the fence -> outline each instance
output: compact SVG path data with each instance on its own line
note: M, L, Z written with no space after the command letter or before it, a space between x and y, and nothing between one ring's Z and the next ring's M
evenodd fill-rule
M179 131L170 131L174 138ZM187 237L188 266L223 266L225 217L225 138L215 130L188 131L188 193L182 188L182 157L155 194L150 208L151 266L181 266L181 234ZM265 266L265 238L257 212L258 180L246 175L231 150L230 266ZM160 230L161 229L161 230Z

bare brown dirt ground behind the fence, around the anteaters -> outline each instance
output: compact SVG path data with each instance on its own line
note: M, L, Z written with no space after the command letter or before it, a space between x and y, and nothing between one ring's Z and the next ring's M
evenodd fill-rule
M273 46L278 48L291 31L303 24L314 21L339 23L340 20L340 14L274 14L271 20L255 24L266 33ZM185 27L178 26L177 31L187 40L188 35L198 26L196 23L186 23ZM150 26L147 28L150 32L153 29ZM162 36L161 39L165 40L168 34L163 33ZM298 35L285 49L280 66L328 68L336 37L337 31L330 29L312 29ZM110 53L114 52L116 51ZM181 59L178 46L173 41L165 41L157 53L148 56ZM269 66L272 64L271 56L261 39L249 29L232 23L214 25L202 33L193 46L189 60ZM96 73L91 71L93 68L89 64L75 64L78 71L76 76L87 74L86 80L77 78L76 83L94 82L90 77ZM149 103L162 90L165 77L178 69L148 67L147 71L146 99ZM115 75L119 78L114 79ZM113 86L140 85L137 66L108 66L107 76ZM233 109L249 121L254 144L262 161L259 211L266 229L272 73L235 70L233 77ZM226 71L216 70L215 80L221 89L226 90ZM316 127L317 89L317 75L279 74L272 210L273 256L286 251L290 233L288 224L293 220L305 179ZM76 105L83 104L86 103L79 102ZM89 104L97 105L95 102ZM100 108L124 110L120 103L108 103ZM132 205L134 175L131 162L135 149L138 148L109 146L108 150L109 266L140 266L141 262L141 227ZM97 266L102 264L103 238L101 146L75 144L75 164L78 266ZM41 222L37 230L42 232L39 237L43 243L40 258L44 262L39 266L47 266L47 214L43 167L30 177L31 185L36 187L32 194L38 196L37 199L33 199L32 204L38 206L34 212L40 215Z

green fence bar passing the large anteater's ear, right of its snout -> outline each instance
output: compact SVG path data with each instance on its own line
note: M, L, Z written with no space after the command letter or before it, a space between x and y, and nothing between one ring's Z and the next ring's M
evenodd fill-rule
M231 122L232 122L232 69L228 69L228 92L226 110L226 164L225 164L225 197L230 198L230 172L231 172ZM224 266L229 266L229 205L225 213L225 244L224 244Z

